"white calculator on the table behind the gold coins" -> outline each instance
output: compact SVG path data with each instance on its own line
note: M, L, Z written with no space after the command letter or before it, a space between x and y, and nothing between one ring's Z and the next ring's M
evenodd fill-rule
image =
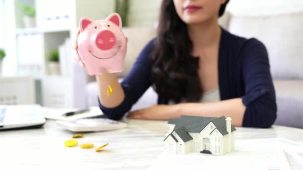
M124 122L108 118L82 118L75 121L58 120L56 123L73 132L98 132L126 128Z

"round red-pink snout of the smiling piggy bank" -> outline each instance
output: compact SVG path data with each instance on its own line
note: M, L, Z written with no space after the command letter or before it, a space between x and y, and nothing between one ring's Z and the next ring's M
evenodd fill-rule
M96 45L100 50L110 50L116 44L116 36L112 31L104 30L98 33Z

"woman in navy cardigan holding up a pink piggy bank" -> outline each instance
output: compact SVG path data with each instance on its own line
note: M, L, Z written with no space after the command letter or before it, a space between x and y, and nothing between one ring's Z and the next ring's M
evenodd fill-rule
M121 85L116 74L96 76L100 109L120 119L152 85L158 104L130 118L226 116L234 126L271 127L277 106L267 50L218 25L228 1L162 0L157 35ZM115 91L108 97L110 84Z

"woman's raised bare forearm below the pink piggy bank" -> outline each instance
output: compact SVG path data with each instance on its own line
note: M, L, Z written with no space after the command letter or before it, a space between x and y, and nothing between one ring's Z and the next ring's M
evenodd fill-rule
M115 73L103 73L96 76L100 103L108 108L118 106L125 98L125 93Z

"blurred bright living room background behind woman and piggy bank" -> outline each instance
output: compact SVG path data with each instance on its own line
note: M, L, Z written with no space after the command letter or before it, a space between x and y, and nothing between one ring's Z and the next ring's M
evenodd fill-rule
M82 16L122 16L125 71L155 36L161 0L0 0L0 104L87 108L97 85L73 59ZM277 91L276 124L303 127L303 0L230 0L219 24L267 47ZM150 88L133 109L156 103Z

